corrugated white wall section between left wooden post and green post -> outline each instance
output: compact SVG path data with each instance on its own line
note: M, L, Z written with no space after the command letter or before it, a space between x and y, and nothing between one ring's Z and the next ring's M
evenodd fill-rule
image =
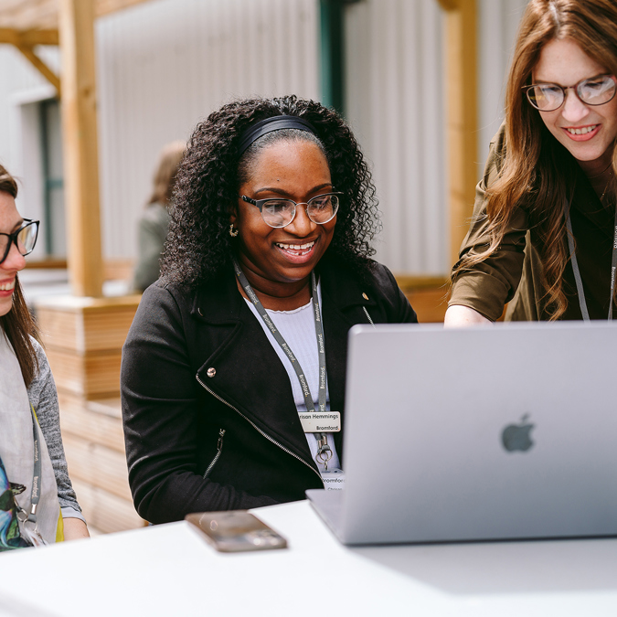
M159 149L233 97L318 98L315 0L155 0L97 24L103 247L133 257Z

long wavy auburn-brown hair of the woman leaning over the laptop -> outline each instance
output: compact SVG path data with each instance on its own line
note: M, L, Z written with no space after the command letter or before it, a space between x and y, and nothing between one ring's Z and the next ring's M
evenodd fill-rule
M548 132L521 89L531 83L531 72L545 45L564 38L572 39L591 59L617 74L617 2L530 0L518 30L505 91L505 156L498 178L486 191L490 242L485 250L465 254L455 272L473 268L495 253L516 207L528 203L529 224L540 240L537 250L551 320L558 319L568 305L562 289L569 260L562 204L572 194L575 175L569 172L572 157ZM617 172L616 152L612 167Z

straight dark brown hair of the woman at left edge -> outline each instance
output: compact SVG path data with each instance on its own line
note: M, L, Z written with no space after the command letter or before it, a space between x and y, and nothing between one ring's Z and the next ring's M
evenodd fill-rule
M11 197L17 197L17 183L5 168L0 165L0 191L8 193ZM0 328L5 331L6 338L13 346L15 355L21 368L21 374L26 386L37 374L37 352L32 345L30 336L38 340L37 324L28 311L21 284L16 277L15 290L13 292L13 306L11 310L0 316Z

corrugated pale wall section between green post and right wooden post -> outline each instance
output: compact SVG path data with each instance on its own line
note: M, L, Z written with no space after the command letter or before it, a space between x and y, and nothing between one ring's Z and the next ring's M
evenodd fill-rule
M397 272L448 270L442 38L436 0L346 9L347 117L374 165L377 259Z

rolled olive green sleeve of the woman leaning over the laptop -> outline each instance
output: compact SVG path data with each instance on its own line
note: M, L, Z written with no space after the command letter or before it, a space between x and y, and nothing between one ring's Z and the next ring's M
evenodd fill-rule
M491 142L484 168L484 176L475 189L475 203L469 232L463 240L460 258L470 251L482 252L488 246L488 216L486 214L486 187L491 186L501 169L505 154L504 125ZM499 249L473 268L454 273L449 306L461 304L473 308L484 317L495 321L504 311L505 303L514 297L523 271L524 250L528 228L526 207L516 207L510 228Z

